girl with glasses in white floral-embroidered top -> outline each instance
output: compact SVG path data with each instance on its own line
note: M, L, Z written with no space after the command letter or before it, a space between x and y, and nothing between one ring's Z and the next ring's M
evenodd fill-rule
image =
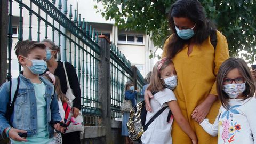
M217 92L222 103L214 124L200 124L218 143L256 143L256 99L250 69L243 59L229 58L220 66ZM196 109L193 114L197 113Z

